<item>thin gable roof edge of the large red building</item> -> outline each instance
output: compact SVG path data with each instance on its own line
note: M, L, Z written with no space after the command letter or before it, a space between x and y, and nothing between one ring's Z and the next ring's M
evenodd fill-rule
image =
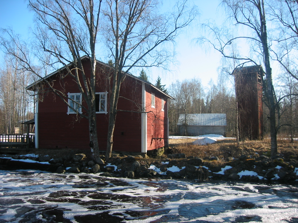
M82 59L85 59L85 58L90 59L90 57L87 56L87 55L82 56L80 59L82 60ZM101 61L99 61L99 60L96 60L96 62L99 63L99 64L101 64L101 65L104 65L104 66L106 66L106 67L110 67L110 65L108 65L108 64L106 64L106 63L104 63L104 62L101 62ZM71 66L71 65L72 65L72 64L69 63L68 65L63 66L63 67L59 68L58 70L55 70L54 72L52 72L52 73L48 74L47 76L45 76L44 79L47 79L47 78L49 78L49 77L51 77L51 76L53 76L53 75L59 73L59 72L60 72L61 70L63 70L64 68L66 68L66 67L68 67L68 66ZM124 71L122 71L122 72L124 73ZM132 75L131 73L126 73L126 75L127 75L127 76L130 76L130 77L132 77L132 78L135 78L136 80L139 80L139 81L141 81L141 82L143 82L143 83L145 83L145 84L147 84L147 85L153 87L154 89L156 89L157 91L161 92L162 94L164 94L164 95L167 96L168 98L170 98L170 99L174 99L172 96L168 95L167 93L164 93L161 89L159 89L158 87L154 86L154 85L151 84L150 82L148 82L148 81L144 81L143 79L141 79L141 78L139 78L139 77L136 77L136 76ZM27 89L27 90L31 90L30 88L32 88L32 87L35 86L36 84L38 84L38 83L44 81L44 79L39 79L38 81L35 81L34 83L28 85L28 86L26 87L26 89Z

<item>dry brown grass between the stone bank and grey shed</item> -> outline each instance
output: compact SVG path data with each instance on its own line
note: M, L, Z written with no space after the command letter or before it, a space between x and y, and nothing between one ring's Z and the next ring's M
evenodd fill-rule
M210 145L193 145L191 142L196 139L169 139L170 151L172 153L185 153L186 156L217 156L226 160L228 157L238 158L242 154L260 156L270 156L270 139L252 140L240 142L237 146L235 140L221 140ZM278 153L285 156L298 155L298 142L290 143L290 140L278 140Z

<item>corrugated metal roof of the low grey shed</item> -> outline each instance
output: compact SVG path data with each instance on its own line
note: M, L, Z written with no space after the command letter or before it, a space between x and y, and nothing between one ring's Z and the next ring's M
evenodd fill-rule
M177 125L184 125L185 114L179 115ZM187 125L226 125L226 114L187 114Z

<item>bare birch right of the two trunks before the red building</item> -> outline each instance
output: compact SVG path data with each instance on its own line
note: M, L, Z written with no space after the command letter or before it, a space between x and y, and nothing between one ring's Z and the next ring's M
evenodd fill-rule
M172 59L170 43L196 17L195 7L178 1L175 11L159 12L157 0L107 0L104 8L105 37L114 61L109 103L108 143L106 159L111 157L117 103L125 74L133 67L166 67Z

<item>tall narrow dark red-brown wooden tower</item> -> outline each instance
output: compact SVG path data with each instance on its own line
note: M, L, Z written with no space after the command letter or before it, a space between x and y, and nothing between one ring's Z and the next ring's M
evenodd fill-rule
M235 76L239 139L263 137L263 69L261 66L237 67Z

